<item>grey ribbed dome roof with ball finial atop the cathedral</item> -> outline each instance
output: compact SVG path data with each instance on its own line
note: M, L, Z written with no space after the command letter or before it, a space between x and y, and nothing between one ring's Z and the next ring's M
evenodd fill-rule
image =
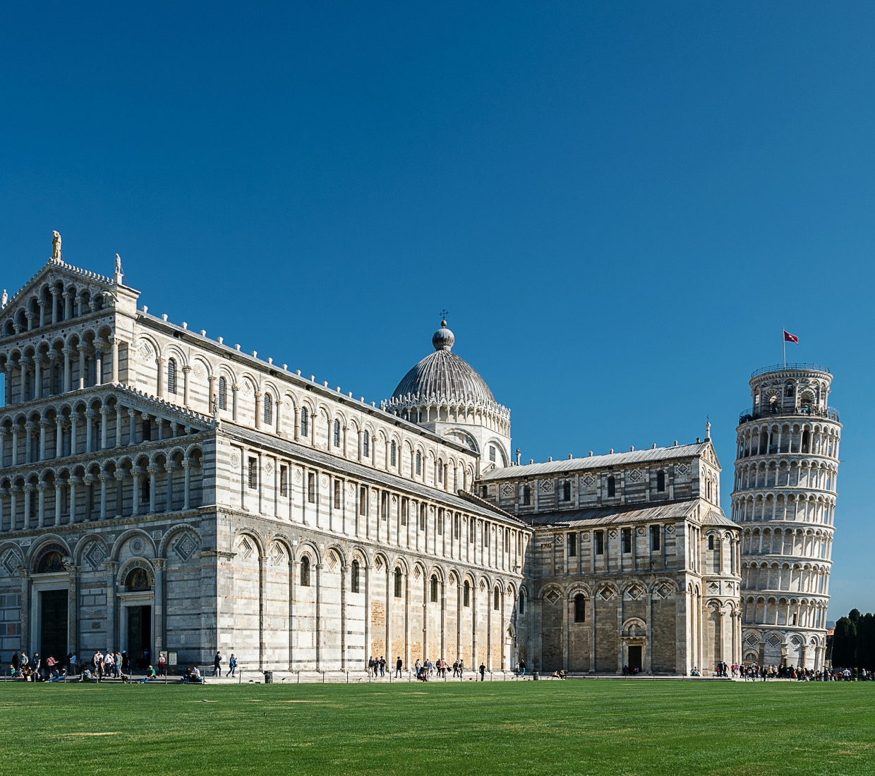
M407 397L416 401L433 399L453 404L486 404L495 406L495 397L486 381L467 361L452 352L456 338L446 328L446 321L431 338L435 348L404 375L392 394L392 400Z

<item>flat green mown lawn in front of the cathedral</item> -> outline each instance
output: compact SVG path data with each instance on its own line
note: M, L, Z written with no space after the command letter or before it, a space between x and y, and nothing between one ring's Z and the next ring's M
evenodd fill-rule
M872 774L873 703L875 682L10 683L0 774Z

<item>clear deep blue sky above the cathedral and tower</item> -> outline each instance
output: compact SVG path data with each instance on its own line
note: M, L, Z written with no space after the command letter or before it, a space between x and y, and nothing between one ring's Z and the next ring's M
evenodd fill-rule
M875 609L871 3L5 3L0 285L50 255L378 401L455 351L524 460L827 364L831 619Z

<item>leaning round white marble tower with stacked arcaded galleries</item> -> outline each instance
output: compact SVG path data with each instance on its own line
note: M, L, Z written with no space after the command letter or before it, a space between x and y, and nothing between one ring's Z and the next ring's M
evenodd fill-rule
M742 657L822 668L842 424L832 374L784 364L751 376L739 418L732 519L742 527Z

